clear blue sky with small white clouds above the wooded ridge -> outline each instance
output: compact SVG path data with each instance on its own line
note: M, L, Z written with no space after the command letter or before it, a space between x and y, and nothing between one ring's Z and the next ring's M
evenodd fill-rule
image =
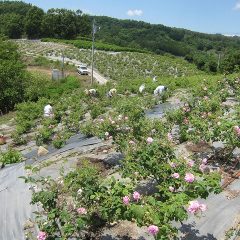
M205 33L240 35L240 0L24 0L43 8L134 19Z

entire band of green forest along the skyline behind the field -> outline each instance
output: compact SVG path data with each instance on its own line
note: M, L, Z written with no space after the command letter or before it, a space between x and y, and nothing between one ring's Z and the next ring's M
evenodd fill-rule
M0 35L9 38L75 39L91 37L95 18L101 30L96 40L156 54L184 57L207 72L233 72L240 69L240 38L204 34L161 24L89 16L81 10L41 8L18 1L0 2Z

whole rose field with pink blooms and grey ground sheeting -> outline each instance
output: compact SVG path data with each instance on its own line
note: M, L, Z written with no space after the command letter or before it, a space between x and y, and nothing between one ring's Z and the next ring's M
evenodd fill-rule
M96 50L90 85L75 66L91 67L90 50L14 42L34 71L25 99L0 117L0 239L238 239L238 73ZM62 55L67 77L51 80L43 71L61 69ZM159 85L168 89L154 95Z

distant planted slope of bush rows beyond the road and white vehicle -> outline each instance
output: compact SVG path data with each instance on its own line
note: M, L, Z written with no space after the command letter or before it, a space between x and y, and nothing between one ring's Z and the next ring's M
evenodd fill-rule
M21 53L26 56L59 57L64 54L69 59L91 65L91 51L77 49L72 45L41 42L17 41ZM184 77L200 74L192 64L182 58L170 55L155 55L133 52L95 52L95 68L112 80L145 79L154 76Z

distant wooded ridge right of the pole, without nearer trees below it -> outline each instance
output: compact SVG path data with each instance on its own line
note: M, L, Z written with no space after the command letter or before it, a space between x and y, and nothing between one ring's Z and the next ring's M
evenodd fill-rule
M120 46L145 48L156 53L170 52L185 56L191 51L223 51L240 47L239 37L205 34L186 29L167 27L133 20L94 17L101 26L98 38Z

